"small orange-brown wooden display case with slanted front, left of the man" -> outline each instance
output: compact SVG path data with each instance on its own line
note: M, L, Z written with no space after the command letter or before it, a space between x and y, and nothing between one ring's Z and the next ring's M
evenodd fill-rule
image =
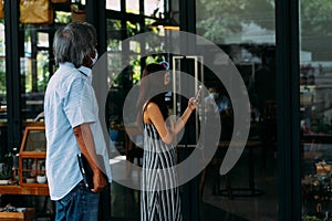
M19 157L20 186L46 186L44 126L25 127Z

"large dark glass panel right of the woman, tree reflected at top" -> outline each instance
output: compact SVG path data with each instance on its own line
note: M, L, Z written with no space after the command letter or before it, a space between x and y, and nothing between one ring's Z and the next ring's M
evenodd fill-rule
M232 136L231 103L237 101L229 101L224 83L217 82L214 73L205 70L205 85L217 94L214 98L217 105L220 104L221 137L219 149L205 171L211 177L207 180L212 181L204 186L203 199L236 220L238 217L278 220L274 10L271 0L196 1L197 34L212 41L229 55L242 76L250 101L247 146L235 167L220 176L219 167L226 151L222 147ZM203 50L208 49L203 45ZM222 57L216 55L214 60L222 65ZM230 114L222 110L225 106Z

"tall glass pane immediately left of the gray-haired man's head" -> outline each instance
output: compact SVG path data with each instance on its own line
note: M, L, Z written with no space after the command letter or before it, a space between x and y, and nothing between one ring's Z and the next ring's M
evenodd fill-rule
M48 29L28 24L21 29L24 48L21 51L22 119L33 120L43 112L43 97L52 73Z

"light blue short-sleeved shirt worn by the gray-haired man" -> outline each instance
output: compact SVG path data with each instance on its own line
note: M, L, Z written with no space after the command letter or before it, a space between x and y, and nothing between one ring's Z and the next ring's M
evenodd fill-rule
M72 63L60 64L45 92L46 177L52 200L62 199L82 180L73 128L84 123L100 125L91 70L80 70ZM97 129L92 130L101 133Z

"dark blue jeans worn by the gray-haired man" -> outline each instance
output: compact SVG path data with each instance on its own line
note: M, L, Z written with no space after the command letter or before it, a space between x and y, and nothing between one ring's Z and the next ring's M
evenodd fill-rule
M64 198L55 201L55 221L97 221L100 193L80 182Z

